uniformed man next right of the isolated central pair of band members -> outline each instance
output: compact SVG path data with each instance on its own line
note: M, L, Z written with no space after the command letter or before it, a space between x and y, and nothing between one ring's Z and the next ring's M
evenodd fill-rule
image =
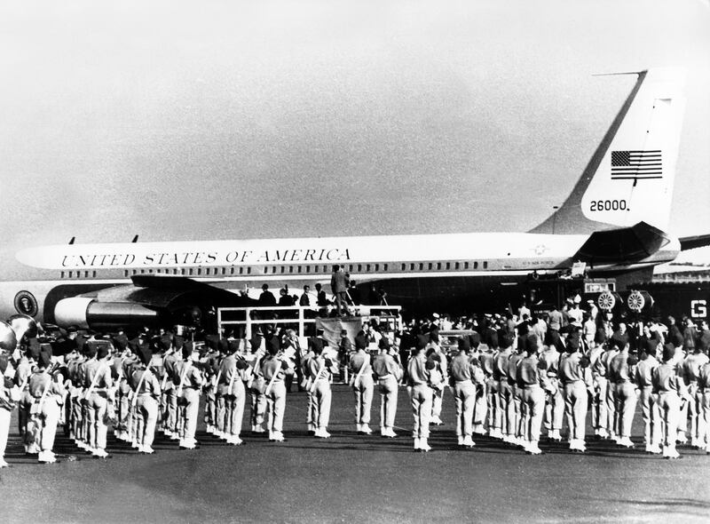
M434 362L427 361L424 349L429 342L428 337L417 335L412 358L407 365L407 389L412 399L414 412L414 449L430 451L429 418L431 416L430 369Z

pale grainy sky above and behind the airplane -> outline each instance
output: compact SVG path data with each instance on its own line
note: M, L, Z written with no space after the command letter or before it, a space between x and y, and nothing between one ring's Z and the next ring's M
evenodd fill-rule
M525 231L688 67L671 233L710 232L706 0L0 7L0 241Z

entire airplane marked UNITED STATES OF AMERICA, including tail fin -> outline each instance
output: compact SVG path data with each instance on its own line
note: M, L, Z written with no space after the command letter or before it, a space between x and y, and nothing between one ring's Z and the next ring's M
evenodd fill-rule
M0 318L27 314L60 326L106 329L199 318L242 305L262 284L328 289L335 264L392 304L431 308L584 263L588 276L634 282L706 237L667 234L684 101L682 72L637 79L563 205L532 230L198 242L116 242L20 250L20 282L0 282ZM699 240L698 240L699 239ZM690 243L689 243L690 242ZM188 319L189 320L189 319Z

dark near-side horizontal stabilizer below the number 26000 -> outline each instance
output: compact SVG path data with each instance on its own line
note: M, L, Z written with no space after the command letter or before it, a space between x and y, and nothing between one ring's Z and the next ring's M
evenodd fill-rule
M590 266L637 262L650 257L670 240L660 229L639 222L635 226L596 231L574 255Z

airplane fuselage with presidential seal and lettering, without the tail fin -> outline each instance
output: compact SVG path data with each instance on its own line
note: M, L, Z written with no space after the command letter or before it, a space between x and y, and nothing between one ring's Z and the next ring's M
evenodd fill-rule
M585 234L470 233L328 237L244 241L66 244L17 254L27 268L21 282L0 283L0 317L18 312L53 322L62 298L130 283L135 275L182 276L256 298L261 286L329 283L338 264L359 284L380 282L390 300L429 300L454 293L479 295L493 282L572 267ZM675 258L671 241L633 264L589 267L591 274L628 272ZM489 286L490 287L490 286ZM325 286L329 292L329 286Z

